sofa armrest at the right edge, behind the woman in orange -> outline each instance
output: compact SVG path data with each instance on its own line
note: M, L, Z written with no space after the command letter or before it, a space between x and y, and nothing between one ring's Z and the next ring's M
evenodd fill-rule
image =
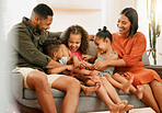
M162 78L162 66L148 65L146 66L146 68L155 70L159 74L159 76Z

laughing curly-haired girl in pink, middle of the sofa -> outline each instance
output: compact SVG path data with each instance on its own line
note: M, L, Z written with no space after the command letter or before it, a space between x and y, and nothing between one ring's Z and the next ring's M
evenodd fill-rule
M78 57L78 60L80 63L77 66L80 68L88 67L88 69L86 68L83 68L83 69L77 68L77 69L74 69L74 71L82 74L82 75L90 75L91 71L93 71L93 70L90 70L89 67L91 67L92 65L85 63L84 59L82 59L82 56L88 53L88 48L89 48L88 32L80 25L72 25L66 30L66 32L63 33L62 39L63 39L65 45L70 50L68 56L77 56ZM124 112L132 109L132 105L126 105L125 108L123 108L121 103L126 104L126 101L120 101L120 99L119 99L116 90L113 88L113 86L107 80L105 80L105 77L99 77L97 75L96 76L92 75L92 78L91 78L93 81L95 81L95 80L101 81L101 87L95 92L99 95L99 98L101 98L101 100L108 106L108 109L112 112L120 111L121 113L124 113ZM112 106L112 104L114 104L114 105Z

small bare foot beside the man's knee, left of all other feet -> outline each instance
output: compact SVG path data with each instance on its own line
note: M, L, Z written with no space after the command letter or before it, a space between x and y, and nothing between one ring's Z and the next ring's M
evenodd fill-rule
M94 86L94 87L85 87L83 90L85 95L91 94L92 92L95 92L101 86Z

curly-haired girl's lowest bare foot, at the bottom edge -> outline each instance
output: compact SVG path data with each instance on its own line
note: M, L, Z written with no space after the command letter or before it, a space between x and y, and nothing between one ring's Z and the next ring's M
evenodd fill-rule
M108 109L109 109L111 113L118 113L124 108L125 108L125 104L124 103L119 103L119 104L109 105Z

